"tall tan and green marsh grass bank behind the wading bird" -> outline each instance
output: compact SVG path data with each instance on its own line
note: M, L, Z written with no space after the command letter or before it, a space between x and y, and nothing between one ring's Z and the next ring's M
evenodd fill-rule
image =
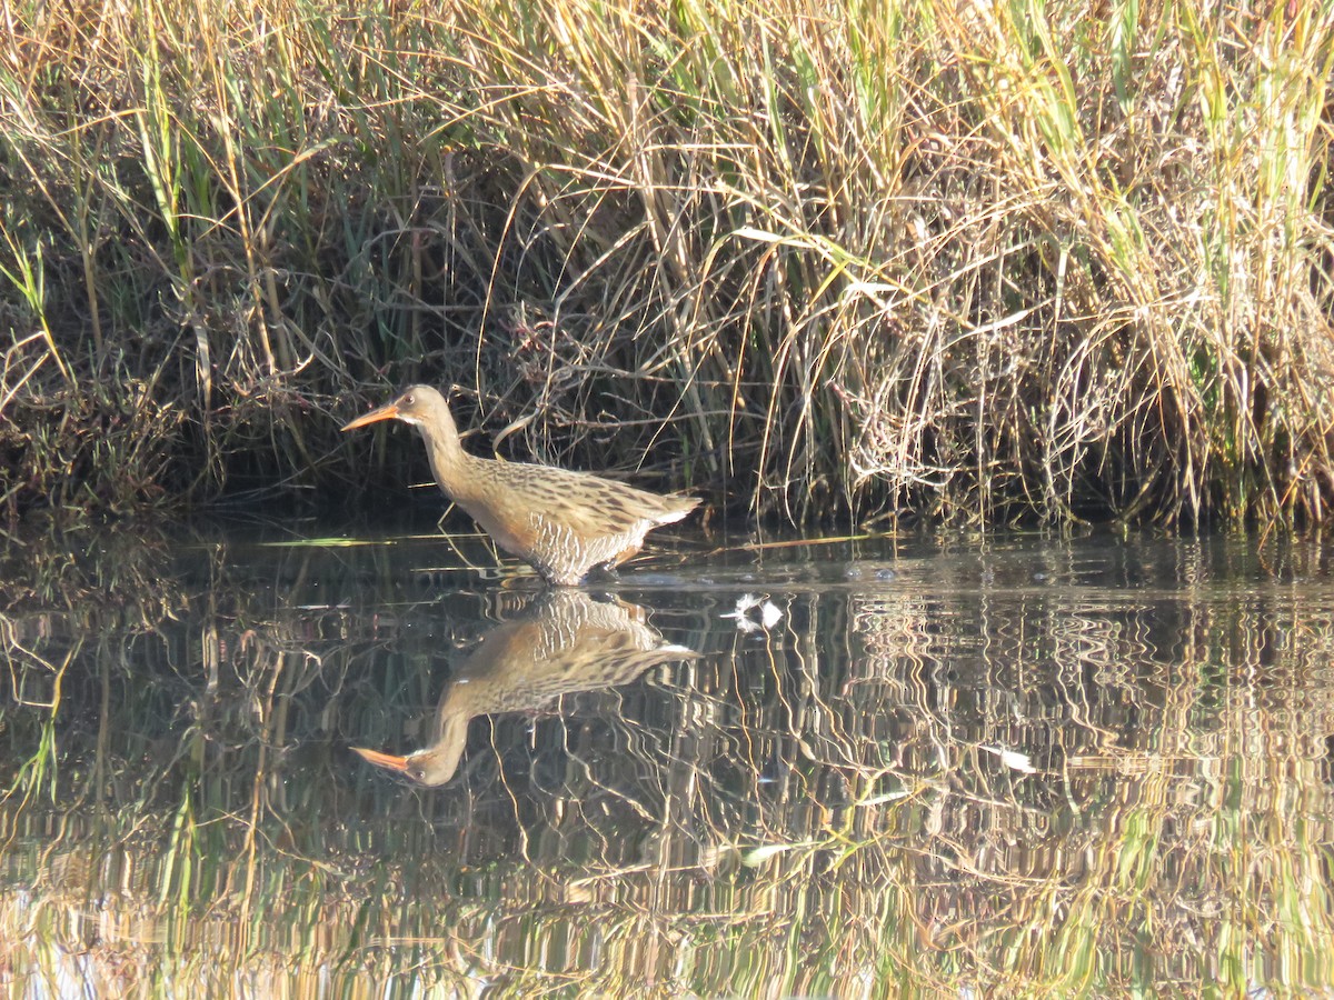
M423 379L795 521L1327 519L1330 4L7 11L11 515L347 489Z

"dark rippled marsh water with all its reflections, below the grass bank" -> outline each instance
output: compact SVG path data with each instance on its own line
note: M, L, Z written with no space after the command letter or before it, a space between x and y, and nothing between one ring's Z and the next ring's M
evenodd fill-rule
M1318 543L49 529L0 648L13 995L1334 985Z

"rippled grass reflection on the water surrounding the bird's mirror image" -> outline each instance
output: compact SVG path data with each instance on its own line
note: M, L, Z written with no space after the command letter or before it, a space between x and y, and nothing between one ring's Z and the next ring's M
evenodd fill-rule
M903 587L792 599L767 641L682 613L704 660L478 723L463 777L418 793L346 745L418 741L480 601L300 611L398 567L273 553L213 549L193 592L119 557L8 612L13 663L21 637L67 664L59 709L0 732L7 784L41 791L0 805L3 924L49 943L5 935L25 981L75 955L205 989L291 991L293 961L570 995L1329 979L1327 608ZM112 573L137 604L95 596Z

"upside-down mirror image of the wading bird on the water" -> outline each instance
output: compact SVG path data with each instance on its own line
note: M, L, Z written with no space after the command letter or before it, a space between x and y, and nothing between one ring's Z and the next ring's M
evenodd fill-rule
M651 667L698 656L667 643L636 604L547 592L487 632L459 664L440 696L431 745L406 757L352 749L416 784L442 785L458 771L475 716L544 708L562 695L628 684Z

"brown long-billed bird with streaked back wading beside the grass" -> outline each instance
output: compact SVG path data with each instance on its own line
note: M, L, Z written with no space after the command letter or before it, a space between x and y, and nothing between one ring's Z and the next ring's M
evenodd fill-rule
M343 431L379 420L415 427L444 495L555 585L578 584L595 567L615 568L639 552L648 531L699 504L694 496L650 493L588 472L470 455L450 404L430 385L410 385Z

